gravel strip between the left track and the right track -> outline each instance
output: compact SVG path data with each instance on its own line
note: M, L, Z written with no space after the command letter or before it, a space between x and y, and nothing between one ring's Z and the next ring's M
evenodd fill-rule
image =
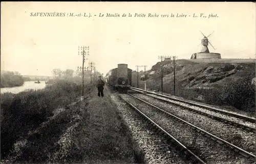
M239 127L234 127L228 123L219 122L207 116L186 110L185 108L161 102L152 97L143 94L133 94L145 101L148 101L167 112L184 119L185 121L194 124L201 129L226 140L227 142L236 145L252 154L255 152L255 133L248 132ZM228 117L228 116L226 116Z

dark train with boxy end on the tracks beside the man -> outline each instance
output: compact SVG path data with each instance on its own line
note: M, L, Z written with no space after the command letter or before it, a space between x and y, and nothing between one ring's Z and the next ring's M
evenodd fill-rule
M126 93L131 89L132 69L127 64L118 64L117 68L106 73L105 80L115 91Z

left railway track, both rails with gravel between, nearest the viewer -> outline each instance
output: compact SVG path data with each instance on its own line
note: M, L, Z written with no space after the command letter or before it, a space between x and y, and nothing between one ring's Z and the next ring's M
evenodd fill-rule
M126 96L130 97L126 97ZM141 116L143 116L145 119L150 121L156 128L158 128L161 132L163 132L165 135L167 135L172 141L176 142L176 144L180 145L182 147L183 151L186 152L186 154L189 154L194 159L196 159L200 163L211 163L212 161L219 160L222 162L222 160L227 160L231 163L234 163L234 161L238 160L237 157L233 155L233 153L230 153L230 150L227 148L216 147L215 144L212 145L209 140L218 142L220 145L225 145L226 147L239 152L241 160L246 161L248 158L251 162L255 160L255 155L249 153L246 150L243 150L221 138L218 136L215 136L175 115L172 115L168 113L167 111L149 103L146 102L134 95L131 94L125 94L125 95L119 95L121 99L123 99L127 104L129 104L131 107L133 107L136 111L138 111ZM133 99L131 99L133 98ZM129 99L131 102L129 102ZM136 100L134 100L136 99ZM151 110L148 110L151 109ZM154 112L153 112L154 111ZM169 119L173 118L173 119ZM164 120L164 121L163 121ZM164 123L163 123L164 122ZM180 126L178 129L182 129L182 131L185 131L185 134L181 134L180 131L177 131L177 127ZM173 128L170 128L173 127ZM176 130L173 130L176 129ZM174 133L173 135L171 133ZM202 135L201 135L202 134ZM178 138L178 139L177 139ZM181 141L182 142L181 142ZM199 142L196 142L196 141ZM192 141L192 143L197 143L198 146L194 147L193 149L190 149L186 147L185 145L190 145L188 141ZM215 142L215 143L216 143ZM184 144L183 144L184 143ZM218 150L217 150L218 149ZM194 150L198 153L194 153ZM208 154L207 154L208 153ZM198 155L199 154L199 155ZM224 159L225 158L225 159ZM248 163L248 161L246 161Z

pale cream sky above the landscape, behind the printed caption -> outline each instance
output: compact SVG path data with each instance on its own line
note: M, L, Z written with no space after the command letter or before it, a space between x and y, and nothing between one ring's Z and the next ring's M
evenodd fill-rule
M40 12L66 16L30 16ZM72 12L82 16L67 16ZM105 17L106 13L120 17ZM148 13L159 17L147 17ZM150 69L160 61L158 56L190 59L200 52L200 31L206 36L214 32L208 37L215 47L209 45L210 52L225 59L255 59L255 13L255 3L242 2L1 2L1 70L48 76L54 68L76 71L82 66L78 46L89 46L84 66L94 62L104 74L119 63L133 70L136 65ZM208 18L209 14L218 17Z

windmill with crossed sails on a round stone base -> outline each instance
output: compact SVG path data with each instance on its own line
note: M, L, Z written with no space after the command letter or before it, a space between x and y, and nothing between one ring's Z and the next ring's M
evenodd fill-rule
M214 32L212 32L212 33L214 33ZM202 35L204 36L200 43L202 45L202 49L198 53L193 53L190 59L221 59L220 53L210 53L210 51L209 51L208 44L210 44L212 46L212 44L208 40L208 37L210 35L208 35L207 37L203 33L202 33ZM214 46L212 46L212 48L214 48Z

